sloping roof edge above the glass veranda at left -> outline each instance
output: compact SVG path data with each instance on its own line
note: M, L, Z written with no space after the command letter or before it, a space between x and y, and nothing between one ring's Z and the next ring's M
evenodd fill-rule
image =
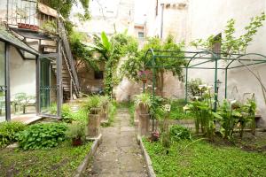
M39 55L38 51L29 47L26 43L21 42L20 39L12 35L12 33L7 31L4 27L0 27L0 41L11 43L20 50L27 51L35 56Z

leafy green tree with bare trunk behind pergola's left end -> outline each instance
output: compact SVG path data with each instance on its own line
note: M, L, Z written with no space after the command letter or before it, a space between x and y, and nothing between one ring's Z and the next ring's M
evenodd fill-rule
M145 53L149 49L153 50L172 50L175 52L162 52L162 55L169 55L171 57L178 58L156 58L155 65L165 67L156 67L155 68L155 78L156 78L156 87L159 89L160 96L163 96L164 88L164 75L165 73L171 72L173 75L176 75L179 81L184 81L184 73L182 66L186 64L184 57L184 43L176 43L172 35L168 35L165 42L161 42L159 38L153 37L149 38L145 43L145 46L142 50L138 51L135 56L129 57L129 59L122 65L121 73L133 81L139 81L137 73L143 70L145 63L149 62L151 58L145 58ZM180 52L178 52L180 51Z

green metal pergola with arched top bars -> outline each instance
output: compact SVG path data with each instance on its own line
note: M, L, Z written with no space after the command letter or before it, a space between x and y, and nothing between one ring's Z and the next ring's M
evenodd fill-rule
M226 56L226 57L225 57ZM246 58L245 58L246 57ZM252 58L251 58L252 57ZM185 101L188 100L188 73L189 69L203 69L203 70L214 70L214 89L215 89L215 111L217 108L218 101L218 88L217 88L217 75L218 70L224 71L224 98L227 98L227 79L228 70L246 67L248 65L261 65L266 63L266 56L258 53L245 53L245 54L228 54L226 52L214 52L212 50L197 50L197 51L184 51L184 50L153 50L149 49L145 53L145 65L144 70L151 69L153 73L153 99L155 96L155 85L156 85L156 68L174 68L170 65L156 65L157 59L186 59L186 64L181 66L185 69ZM199 61L199 63L192 63L192 61ZM225 65L219 66L219 61L227 61ZM203 64L214 63L214 66L204 66ZM238 62L240 65L232 65ZM248 62L248 64L245 64ZM143 91L145 92L145 83L143 85ZM154 130L154 119L153 119L153 130Z

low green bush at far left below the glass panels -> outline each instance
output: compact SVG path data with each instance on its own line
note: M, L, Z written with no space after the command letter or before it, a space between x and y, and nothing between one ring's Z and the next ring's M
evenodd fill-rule
M0 148L16 141L16 134L25 129L20 122L4 122L0 124Z

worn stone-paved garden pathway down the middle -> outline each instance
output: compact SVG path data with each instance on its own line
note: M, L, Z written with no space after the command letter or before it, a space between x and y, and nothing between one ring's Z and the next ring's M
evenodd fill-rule
M135 127L129 126L129 111L119 109L113 127L101 129L103 142L84 176L146 177Z

